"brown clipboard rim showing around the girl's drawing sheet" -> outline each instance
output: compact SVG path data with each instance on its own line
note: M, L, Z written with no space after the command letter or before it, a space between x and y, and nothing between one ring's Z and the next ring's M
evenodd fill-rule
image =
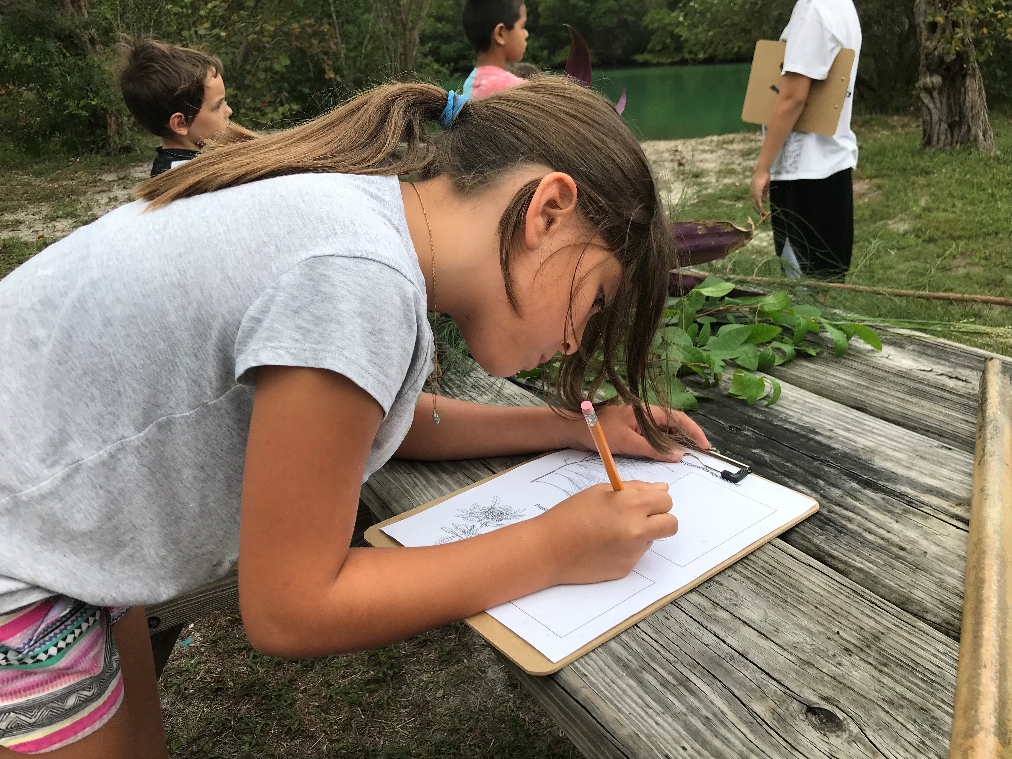
M551 453L554 451L549 451L549 452ZM547 454L549 453L543 453L542 455L547 455ZM540 458L540 457L541 456L534 456L534 458ZM384 532L382 528L386 527L388 524L393 524L394 522L399 522L402 519L407 519L409 516L414 516L420 511L425 511L425 509L430 509L436 504L440 504L448 498L452 498L455 495L465 493L471 490L472 488L476 488L479 485L489 482L490 480L495 480L497 477L501 477L502 475L505 475L507 472L512 472L517 467L523 467L525 463L529 463L530 461L534 460L534 458L528 459L523 463L518 463L516 465L516 467L510 467L508 470L503 470L499 474L492 475L491 477L487 477L484 480L480 480L474 485L469 485L467 488L460 488L459 490L453 491L452 493L447 493L445 496L436 498L435 500L429 501L426 504L422 504L421 506L413 508L410 511L405 511L403 514L399 514L398 516L392 517L391 519L387 519L386 521L380 522L378 524L373 524L371 527L365 530L365 539L369 542L370 545L376 547L391 547L395 545L400 545L401 543L399 543L393 537ZM749 475L749 477L758 477L758 475L751 474ZM529 643L524 641L522 638L520 638L520 636L518 636L516 632L511 630L505 624L503 624L498 619L493 617L487 611L482 611L473 616L469 616L467 619L465 619L465 621L469 624L469 626L471 626L472 629L474 629L476 632L478 632L478 635L484 638L487 643L489 643L491 646L500 651L504 656L508 657L510 661L516 664L516 666L518 666L528 675L551 675L553 672L558 672L566 665L572 664L584 654L593 651L602 643L610 641L619 632L628 629L637 622L645 619L658 609L671 603L673 600L678 598L678 596L683 595L684 593L687 593L688 591L692 590L692 588L699 585L699 583L703 582L704 580L708 580L718 572L721 572L722 570L730 567L732 564L737 562L742 557L751 554L753 551L758 549L763 543L769 542L784 530L793 527L795 524L803 521L804 519L808 519L810 516L812 516L819 510L818 501L816 501L814 498L809 498L808 496L805 496L804 494L800 493L798 495L802 495L804 498L808 499L809 501L812 501L812 508L810 508L804 514L798 516L796 519L791 520L787 524L778 527L777 529L773 530L764 537L756 540L754 543L738 552L727 561L722 562L716 567L713 567L713 569L711 569L709 572L706 572L700 577L697 577L695 580L688 583L687 585L683 585L674 593L670 593L666 595L664 598L654 601L654 603L650 604L650 606L648 606L647 608L638 611L636 614L632 614L632 616L628 617L624 621L619 622L606 632L602 632L590 643L586 644L582 648L570 654L565 659L562 659L558 662L553 662L551 659L544 656L544 654L542 654L540 651L535 649Z

